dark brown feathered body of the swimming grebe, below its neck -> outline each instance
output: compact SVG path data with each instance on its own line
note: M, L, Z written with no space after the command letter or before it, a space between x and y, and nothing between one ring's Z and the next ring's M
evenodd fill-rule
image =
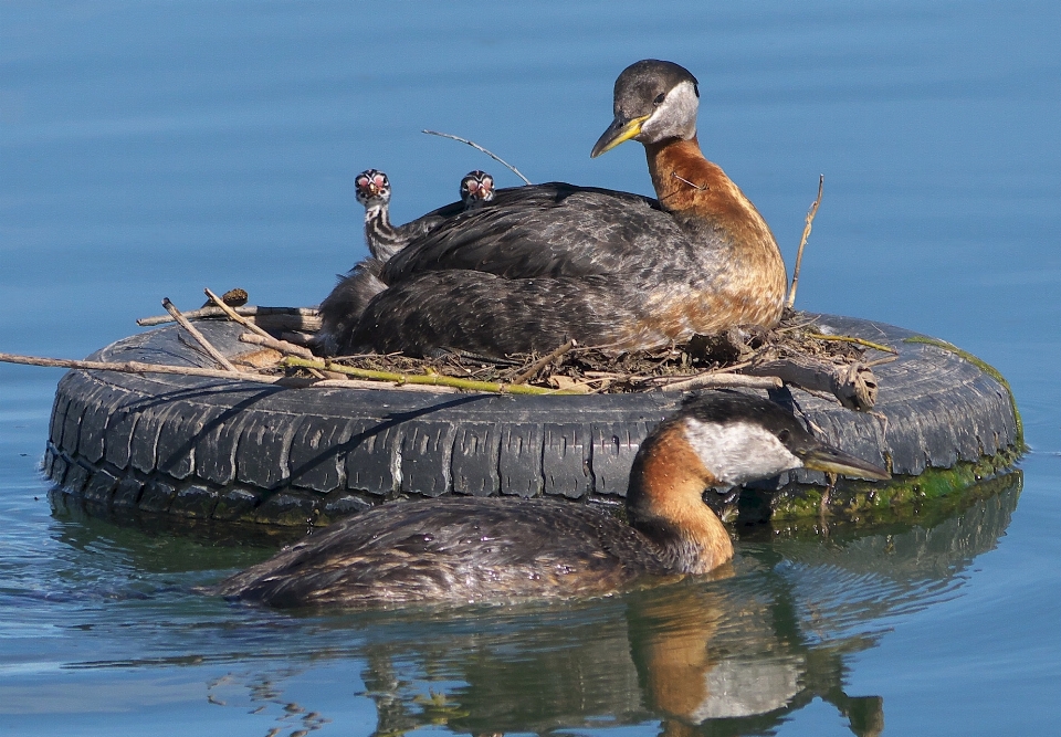
M228 579L219 593L273 607L521 599L619 589L670 571L633 528L544 499L389 504Z

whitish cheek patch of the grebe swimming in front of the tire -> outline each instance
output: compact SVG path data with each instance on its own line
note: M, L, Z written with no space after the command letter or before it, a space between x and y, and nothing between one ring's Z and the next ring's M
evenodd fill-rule
M774 433L753 422L717 424L686 418L685 439L707 470L731 486L803 465Z

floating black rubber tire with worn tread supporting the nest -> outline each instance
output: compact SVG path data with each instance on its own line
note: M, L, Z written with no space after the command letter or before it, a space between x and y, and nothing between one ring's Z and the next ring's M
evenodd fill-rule
M1008 389L976 364L907 343L917 334L902 328L834 316L819 322L901 351L875 369L872 413L799 390L773 392L819 436L895 474L1019 448ZM239 326L198 326L222 352L249 349ZM91 358L212 368L174 326ZM680 402L661 392L434 394L73 370L56 389L44 473L90 510L286 525L327 522L401 495L617 501L639 443ZM795 480L823 482L807 472Z

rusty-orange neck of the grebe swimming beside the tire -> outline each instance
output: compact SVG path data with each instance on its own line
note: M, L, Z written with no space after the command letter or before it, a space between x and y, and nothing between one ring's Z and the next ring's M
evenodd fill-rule
M706 573L733 557L722 520L703 502L716 482L673 423L645 441L627 491L630 524L661 548L675 572Z

